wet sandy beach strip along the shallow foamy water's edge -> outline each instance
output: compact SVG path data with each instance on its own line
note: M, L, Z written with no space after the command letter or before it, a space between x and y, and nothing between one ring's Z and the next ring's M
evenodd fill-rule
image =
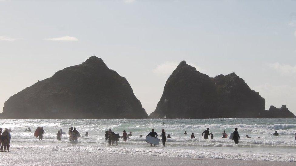
M296 165L296 162L198 159L143 155L118 155L85 152L32 151L11 149L0 153L1 165Z

